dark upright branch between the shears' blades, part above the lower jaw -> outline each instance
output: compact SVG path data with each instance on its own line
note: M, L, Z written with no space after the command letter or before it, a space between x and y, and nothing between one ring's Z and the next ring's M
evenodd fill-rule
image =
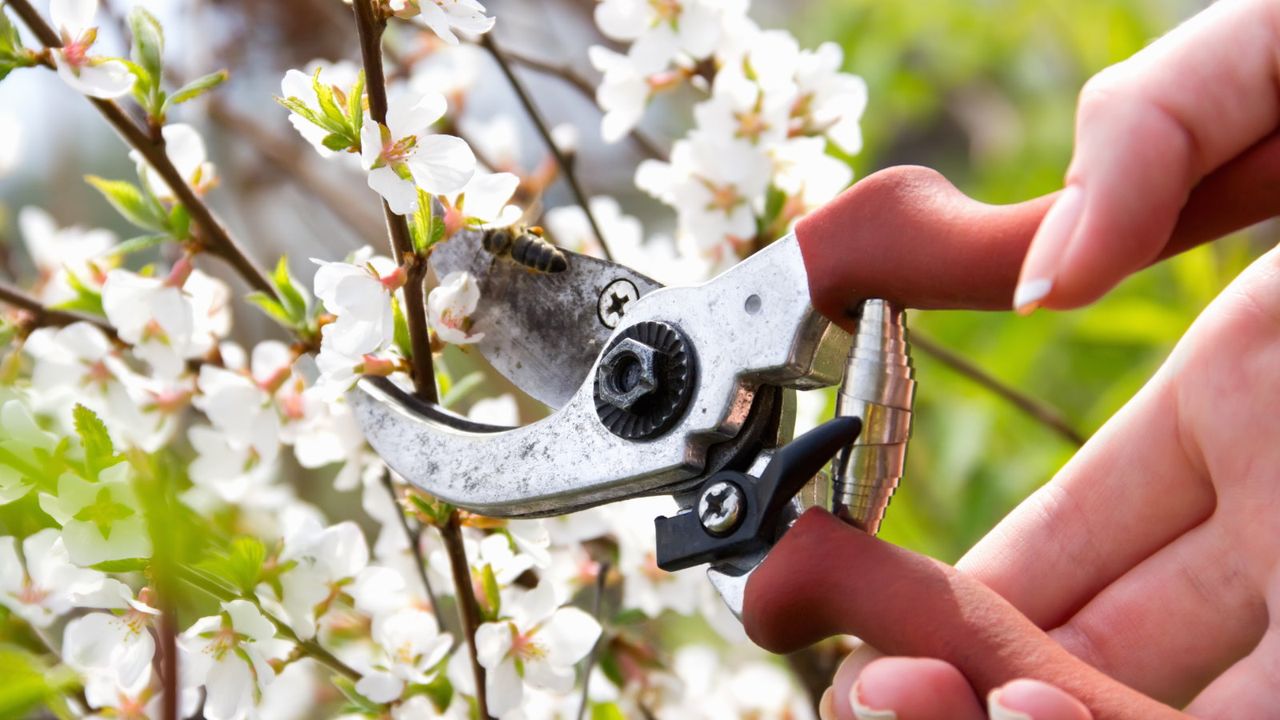
M374 8L374 0L352 3L356 13L356 29L360 33L360 56L365 65L365 91L369 94L370 119L387 124L387 77L383 73L383 31L387 19ZM415 395L426 402L439 402L435 387L435 368L431 363L431 338L426 324L426 284L428 264L413 252L413 241L408 234L408 223L402 215L392 211L383 200L383 215L387 219L387 233L390 237L396 261L404 268L404 319L408 324L410 346L413 368Z

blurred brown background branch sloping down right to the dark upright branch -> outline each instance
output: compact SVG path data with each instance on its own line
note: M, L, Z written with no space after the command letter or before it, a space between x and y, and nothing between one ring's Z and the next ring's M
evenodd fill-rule
M218 100L209 102L209 118L233 132L238 140L252 145L259 156L316 196L325 209L357 236L366 237L378 228L376 217L365 211L364 205L352 202L346 188L333 184L307 163L307 154L300 143L276 136L252 117L237 113Z

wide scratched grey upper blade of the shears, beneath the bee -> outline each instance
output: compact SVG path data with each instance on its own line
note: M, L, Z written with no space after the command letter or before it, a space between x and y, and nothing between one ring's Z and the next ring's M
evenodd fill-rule
M567 250L567 270L536 273L495 258L481 246L483 236L465 231L440 243L431 251L431 269L442 278L454 270L475 275L481 300L471 332L484 333L476 348L532 398L563 407L613 332L600 313L605 290L608 306L614 291L634 301L662 286L625 265Z

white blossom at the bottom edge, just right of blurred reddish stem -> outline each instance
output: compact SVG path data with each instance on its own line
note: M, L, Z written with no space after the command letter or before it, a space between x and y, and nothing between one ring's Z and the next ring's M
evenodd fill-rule
M275 679L268 662L275 628L247 600L223 603L219 615L196 620L178 639L186 687L204 685L205 717L243 720Z

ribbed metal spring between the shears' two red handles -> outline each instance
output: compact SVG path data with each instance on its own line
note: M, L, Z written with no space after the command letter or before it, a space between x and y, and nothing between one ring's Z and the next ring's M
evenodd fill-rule
M836 396L836 415L861 418L863 432L833 462L832 510L870 534L902 479L914 397L906 316L884 300L867 300Z

